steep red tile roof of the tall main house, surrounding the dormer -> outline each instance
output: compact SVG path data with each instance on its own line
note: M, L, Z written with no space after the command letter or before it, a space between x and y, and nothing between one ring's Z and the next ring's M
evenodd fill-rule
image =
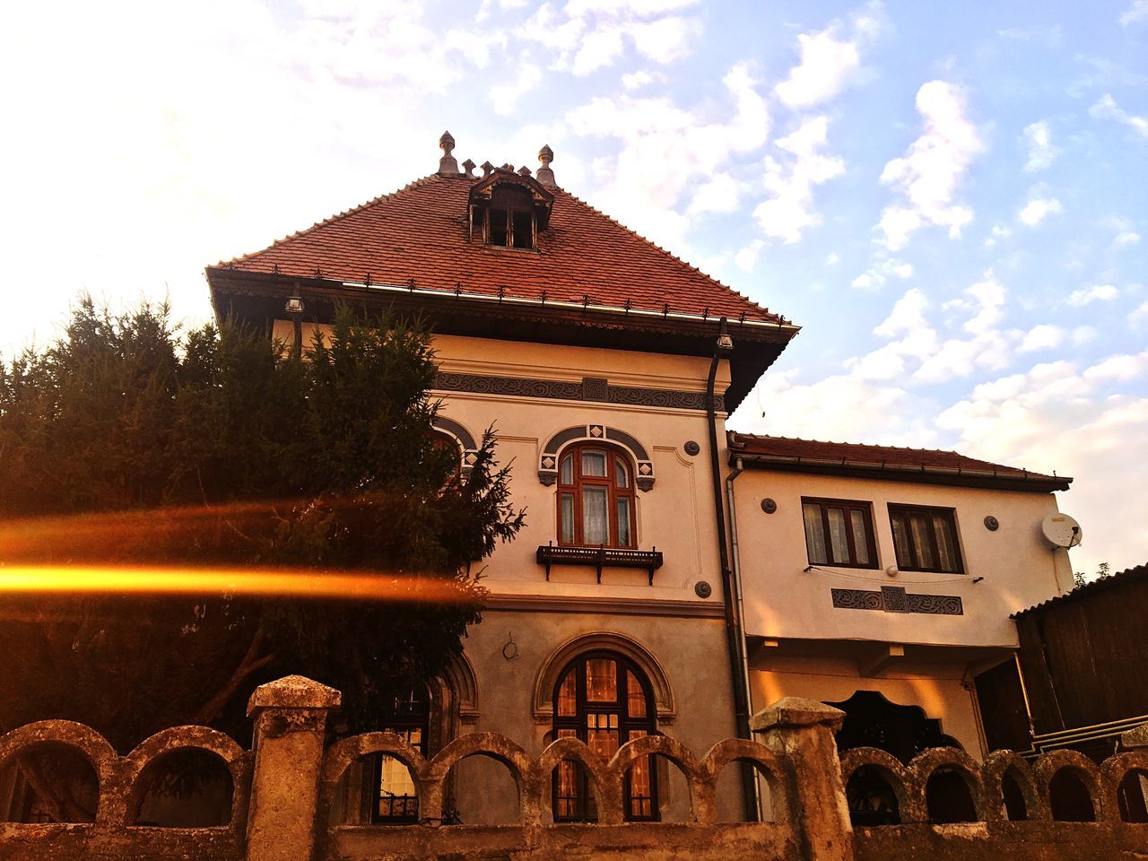
M545 293L553 302L623 308L629 301L649 311L782 319L561 189L553 192L550 225L538 234L536 251L467 242L467 195L475 181L432 174L211 269L357 284L370 276L375 285L413 279L420 289L450 293L502 289L527 300Z

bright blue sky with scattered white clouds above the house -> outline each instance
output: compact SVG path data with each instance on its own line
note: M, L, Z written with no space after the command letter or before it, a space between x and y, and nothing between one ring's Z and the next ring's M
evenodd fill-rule
M805 327L739 429L1076 476L1148 559L1148 0L25 3L6 355L456 155L559 185Z

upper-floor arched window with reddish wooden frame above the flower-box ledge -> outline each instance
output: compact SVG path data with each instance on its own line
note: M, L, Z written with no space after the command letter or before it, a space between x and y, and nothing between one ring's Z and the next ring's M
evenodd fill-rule
M620 449L572 445L558 464L558 543L636 548L634 468Z

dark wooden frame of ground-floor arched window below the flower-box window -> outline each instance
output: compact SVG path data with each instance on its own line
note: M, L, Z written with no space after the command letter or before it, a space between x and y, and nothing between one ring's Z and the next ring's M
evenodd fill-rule
M587 661L606 659L612 660L618 667L616 674L616 697L613 703L590 703L587 696ZM575 696L575 707L573 715L560 715L558 706L558 697L561 692L563 682L566 681L566 676L569 673L575 673L576 682L576 696ZM637 680L642 688L642 695L645 697L646 713L644 716L633 716L629 714L629 691L628 685L625 683L626 674L630 674ZM627 742L630 740L630 732L638 731L644 732L647 736L660 735L658 732L658 719L657 719L657 707L653 699L653 687L650 684L650 680L646 677L645 673L634 664L634 661L628 658L618 654L616 652L596 650L590 652L583 652L582 654L569 661L561 673L558 674L558 681L554 682L554 691L552 698L554 707L554 718L552 723L553 737L559 738L559 730L574 730L575 738L580 739L582 743L588 744L589 729L588 729L588 715L591 714L616 714L618 715L618 746L621 748ZM575 799L575 805L577 807L573 816L560 816L558 814L558 769L561 763L556 766L553 774L551 775L551 809L553 812L554 822L591 822L595 821L590 815L589 805L592 801L594 793L590 790L589 778L585 771L580 769L577 779L577 796ZM622 806L623 816L627 822L658 822L661 819L661 810L659 804L659 792L658 792L658 769L657 761L653 754L649 758L649 770L650 770L650 815L649 816L636 816L631 808L631 796L630 796L630 775L627 773L626 779L622 784Z

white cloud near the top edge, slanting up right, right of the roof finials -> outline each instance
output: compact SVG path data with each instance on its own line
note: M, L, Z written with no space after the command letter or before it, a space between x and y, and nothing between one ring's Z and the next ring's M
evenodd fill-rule
M852 26L833 21L824 30L799 33L800 62L774 92L791 108L809 108L827 102L850 84L861 69L861 47L884 29L884 8L872 2L854 15Z

